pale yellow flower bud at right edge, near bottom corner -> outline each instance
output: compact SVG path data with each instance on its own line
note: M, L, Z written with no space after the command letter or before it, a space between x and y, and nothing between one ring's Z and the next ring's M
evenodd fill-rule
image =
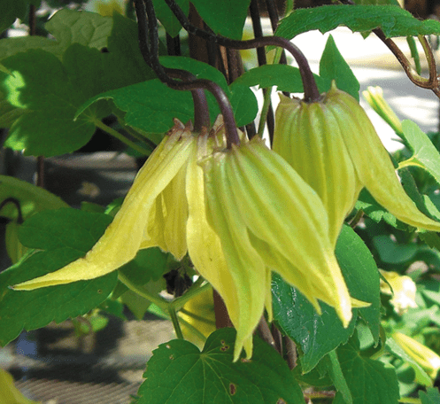
M391 335L391 338L428 373L429 377L436 378L440 369L440 356L429 349L428 346L424 346L419 341L401 332L395 332Z

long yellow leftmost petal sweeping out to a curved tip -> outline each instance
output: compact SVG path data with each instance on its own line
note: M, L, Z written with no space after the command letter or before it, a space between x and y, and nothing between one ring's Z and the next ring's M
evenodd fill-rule
M176 125L170 135L158 145L136 175L120 211L105 230L103 237L84 258L45 276L17 284L14 289L32 290L93 279L133 260L143 239L150 239L145 231L156 198L189 158L192 136L188 134L189 129Z

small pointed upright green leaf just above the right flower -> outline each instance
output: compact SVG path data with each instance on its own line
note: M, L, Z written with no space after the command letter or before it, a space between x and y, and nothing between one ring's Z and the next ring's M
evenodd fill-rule
M330 89L331 82L335 80L338 89L342 89L359 101L358 79L337 49L332 35L328 36L326 47L320 58L320 77L326 81L325 91Z

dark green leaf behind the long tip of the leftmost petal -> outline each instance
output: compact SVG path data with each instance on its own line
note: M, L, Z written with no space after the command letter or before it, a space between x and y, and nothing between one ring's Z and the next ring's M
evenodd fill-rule
M116 272L35 291L13 291L8 286L53 272L80 258L111 221L105 214L62 208L35 214L23 223L19 230L21 243L43 251L27 254L0 274L0 345L12 341L23 329L35 330L52 321L84 315L107 298L116 284Z

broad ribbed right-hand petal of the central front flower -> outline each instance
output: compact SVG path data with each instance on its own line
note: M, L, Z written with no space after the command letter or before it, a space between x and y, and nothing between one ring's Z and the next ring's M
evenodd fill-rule
M335 307L347 326L350 295L328 238L326 210L316 192L257 137L234 147L230 155L227 175L234 190L230 198L266 265L315 307L316 299Z

